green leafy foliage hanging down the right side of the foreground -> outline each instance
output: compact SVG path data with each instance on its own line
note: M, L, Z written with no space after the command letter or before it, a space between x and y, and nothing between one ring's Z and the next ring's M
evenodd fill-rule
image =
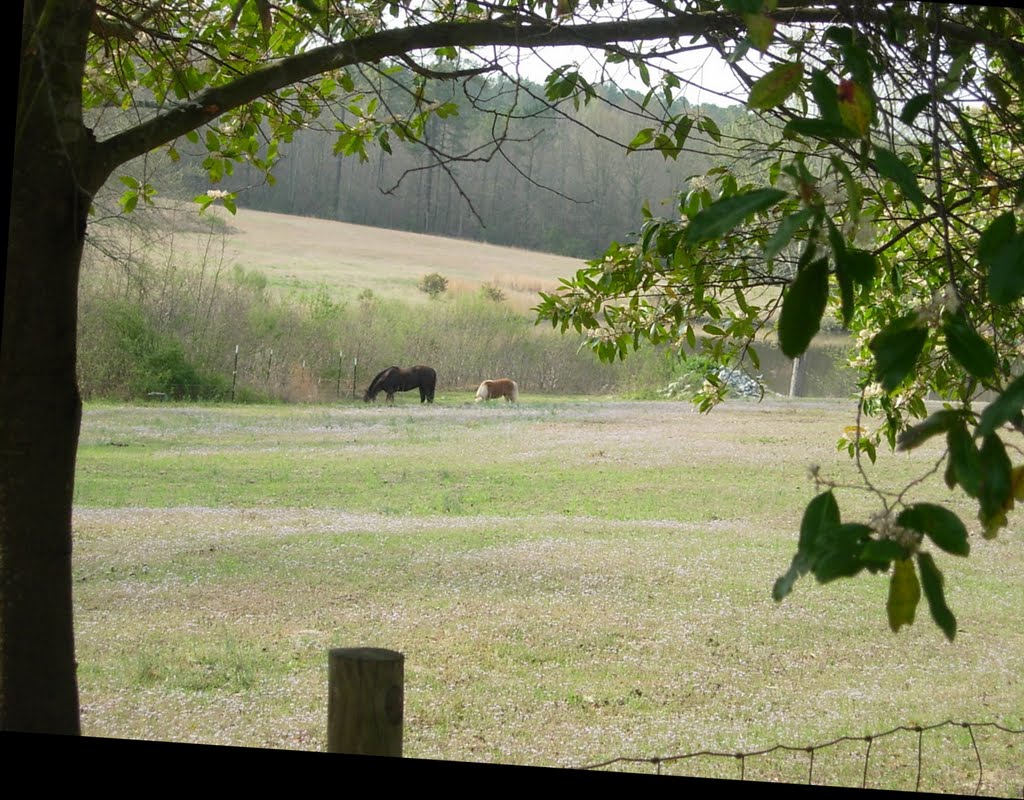
M944 438L934 469L976 501L986 539L1024 498L1024 465L1011 455L1024 432L1021 17L857 4L828 25L783 27L781 8L725 5L766 53L763 69L744 75L758 116L738 144L745 159L685 187L677 217L645 212L636 241L612 244L546 296L541 315L588 333L608 360L641 339L693 347L703 321L708 352L755 368L759 340L777 337L796 357L834 315L860 347L860 411L846 444L878 510L844 520L835 485L815 472L821 493L774 596L808 573L821 583L888 573L892 629L912 623L924 592L952 639L956 620L931 551L968 555L967 527L915 502L916 478L876 487L861 462L876 460L883 438L904 451ZM644 128L631 146L675 148L691 124ZM697 401L708 410L725 390L711 382ZM929 416L930 392L945 407ZM979 415L983 396L993 402ZM867 415L883 418L873 431L862 427Z

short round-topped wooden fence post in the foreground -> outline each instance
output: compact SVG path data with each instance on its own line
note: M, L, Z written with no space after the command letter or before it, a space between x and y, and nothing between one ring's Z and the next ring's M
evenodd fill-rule
M327 751L401 756L406 657L379 647L328 656Z

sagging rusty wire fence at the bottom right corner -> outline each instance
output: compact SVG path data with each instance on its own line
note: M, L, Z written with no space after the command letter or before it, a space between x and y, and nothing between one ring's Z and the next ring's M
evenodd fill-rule
M945 722L938 722L933 725L900 725L890 730L883 731L881 733L871 733L863 736L839 736L830 742L823 742L817 745L806 745L803 747L795 747L791 745L773 745L772 747L765 748L763 750L753 750L744 752L719 752L712 750L702 750L693 753L679 753L671 756L648 756L648 757L630 757L630 756L620 756L617 758L611 758L606 761L601 761L594 764L587 764L583 766L583 769L607 769L609 767L623 767L627 765L650 765L657 774L665 773L665 767L670 764L679 763L683 761L691 761L694 759L713 759L719 761L735 761L737 763L737 774L740 781L743 780L762 780L760 776L757 778L752 778L748 772L748 762L756 758L767 758L773 754L777 753L790 753L797 755L804 755L806 757L806 783L808 785L815 783L815 756L820 755L822 752L829 751L831 749L838 749L843 745L849 743L860 743L863 745L863 753L860 756L863 759L863 766L858 771L860 773L860 788L861 789L880 789L880 788L893 788L893 787L881 787L878 786L878 776L872 784L872 748L878 751L878 746L881 742L894 738L901 733L916 733L916 744L910 749L910 763L909 766L915 770L915 776L913 782L913 791L922 791L923 777L926 775L926 746L925 746L925 734L934 734L941 731L942 729L952 728L955 731L966 731L967 742L958 745L961 750L966 750L966 755L968 759L973 763L976 769L976 775L974 781L974 794L982 794L983 787L986 790L986 794L992 794L994 791L994 796L1000 797L1020 797L1024 798L1024 750L1022 750L1022 745L1024 745L1024 728L1013 728L1006 725L1001 725L997 722L954 722L953 720L946 720ZM946 730L946 732L950 732ZM979 739L981 739L982 733L994 733L1000 738L1000 743L996 743L994 746L986 749L979 746ZM948 736L943 736L943 740L948 740ZM989 743L991 744L991 743ZM944 760L944 766L948 764L950 759L950 750L948 745L940 748L933 748L929 751L930 760ZM989 768L986 769L985 762L982 758L983 750L989 754ZM995 753L995 755L992 755ZM962 753L961 761L963 762ZM876 753L878 760L878 756ZM859 760L859 758L858 758ZM819 758L820 762L820 758ZM993 764L998 764L994 766ZM886 768L887 772L891 771L892 766ZM937 775L933 775L928 787L929 792L951 792L956 794L963 794L964 789L956 788L948 785L954 778L949 774L948 769L937 770ZM997 774L994 774L997 773ZM943 781L943 775L945 781ZM727 776L727 775L726 775ZM989 777L988 784L986 784L986 776ZM848 783L833 783L830 781L821 780L820 769L817 775L819 786L848 786ZM937 778L937 780L936 780ZM992 778L995 778L994 781ZM786 780L786 783L797 783L796 780ZM946 783L946 786L937 786L937 784ZM1006 792L1002 794L1001 792Z

